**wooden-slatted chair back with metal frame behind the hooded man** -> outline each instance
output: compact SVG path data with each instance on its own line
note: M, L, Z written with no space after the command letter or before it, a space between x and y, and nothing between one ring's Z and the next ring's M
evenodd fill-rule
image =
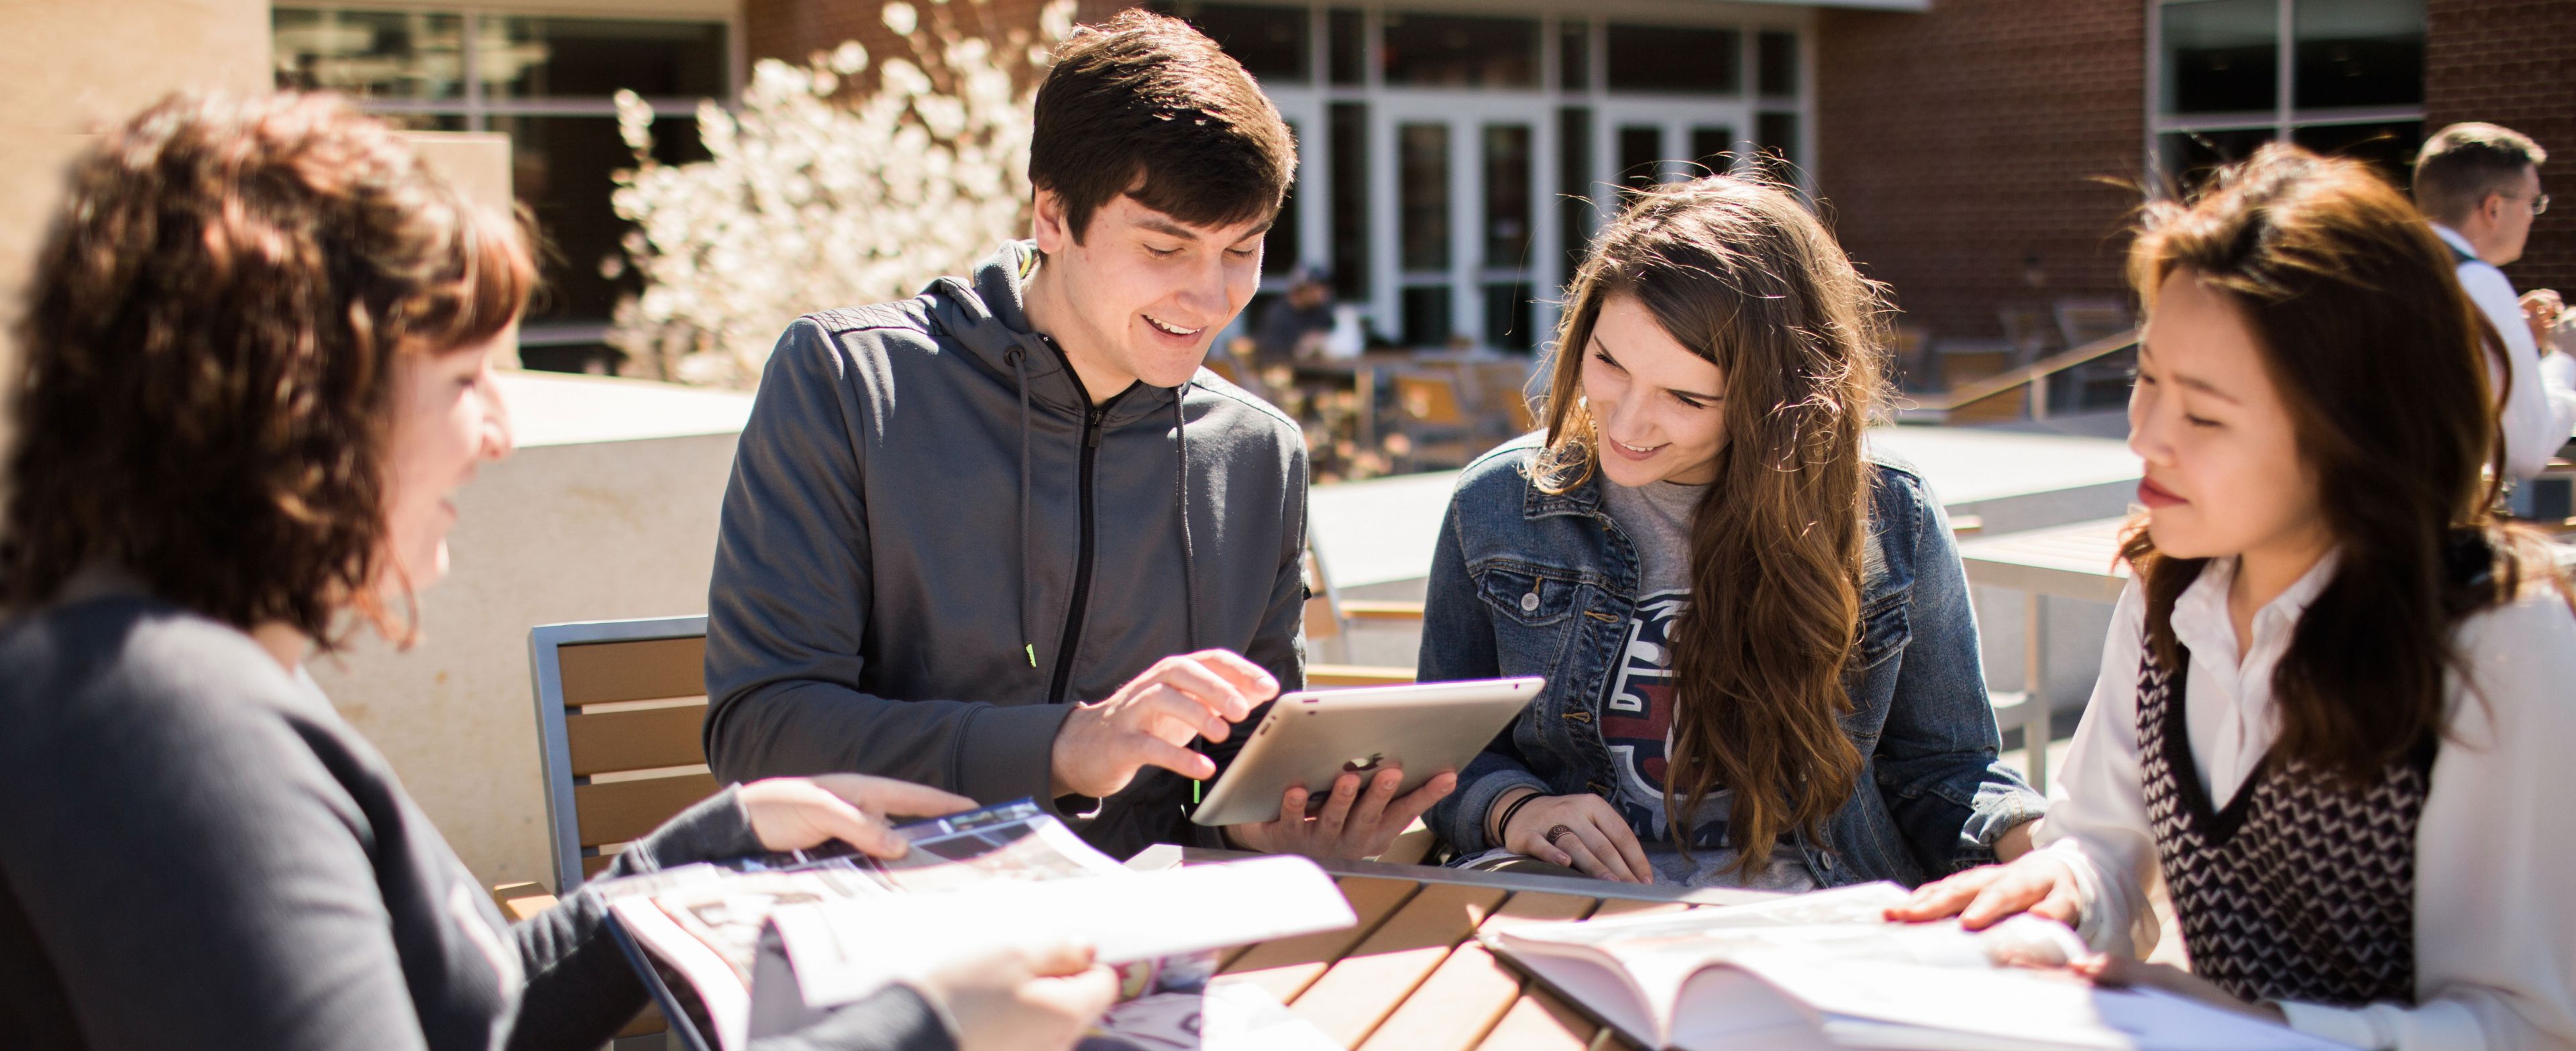
M528 631L556 894L716 793L706 768L706 618Z

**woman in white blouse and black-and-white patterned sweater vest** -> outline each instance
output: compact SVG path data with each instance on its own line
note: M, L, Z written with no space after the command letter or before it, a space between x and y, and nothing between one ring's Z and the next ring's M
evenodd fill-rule
M2061 796L1893 914L2050 914L2097 979L2365 1048L2576 1046L2576 611L2488 513L2450 255L2367 167L2264 147L2151 206L2130 281L2146 528ZM2159 873L2192 974L2136 961Z

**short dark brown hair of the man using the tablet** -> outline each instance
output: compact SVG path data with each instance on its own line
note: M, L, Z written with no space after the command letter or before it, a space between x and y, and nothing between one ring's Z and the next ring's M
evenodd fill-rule
M1028 180L1079 242L1121 193L1190 227L1270 219L1296 142L1242 62L1177 18L1128 8L1079 28L1038 85Z

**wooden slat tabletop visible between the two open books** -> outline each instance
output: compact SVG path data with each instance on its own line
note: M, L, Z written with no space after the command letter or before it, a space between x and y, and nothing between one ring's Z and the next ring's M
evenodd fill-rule
M1151 847L1128 866L1234 858L1249 855ZM1324 871L1360 922L1239 948L1224 958L1216 981L1267 989L1352 1051L1633 1051L1486 953L1473 940L1476 930L1772 896L1365 860L1324 863Z

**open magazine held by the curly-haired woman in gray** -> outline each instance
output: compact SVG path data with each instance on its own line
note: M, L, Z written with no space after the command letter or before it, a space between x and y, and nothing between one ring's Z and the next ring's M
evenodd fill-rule
M1301 858L1136 873L1025 799L896 832L912 850L891 860L858 853L739 858L595 889L618 945L696 1051L737 1051L801 1028L889 981L1023 940L1030 930L1092 943L1103 963L1121 969L1121 994L1131 1005L1110 1012L1113 1025L1123 1015L1162 1025L1159 1015L1172 1015L1180 999L1159 999L1159 1015L1146 999L1190 994L1195 1002L1216 948L1355 922L1332 878ZM1224 1007L1229 1025L1267 1018L1260 1005ZM1211 999L1208 1010L1218 1005Z

